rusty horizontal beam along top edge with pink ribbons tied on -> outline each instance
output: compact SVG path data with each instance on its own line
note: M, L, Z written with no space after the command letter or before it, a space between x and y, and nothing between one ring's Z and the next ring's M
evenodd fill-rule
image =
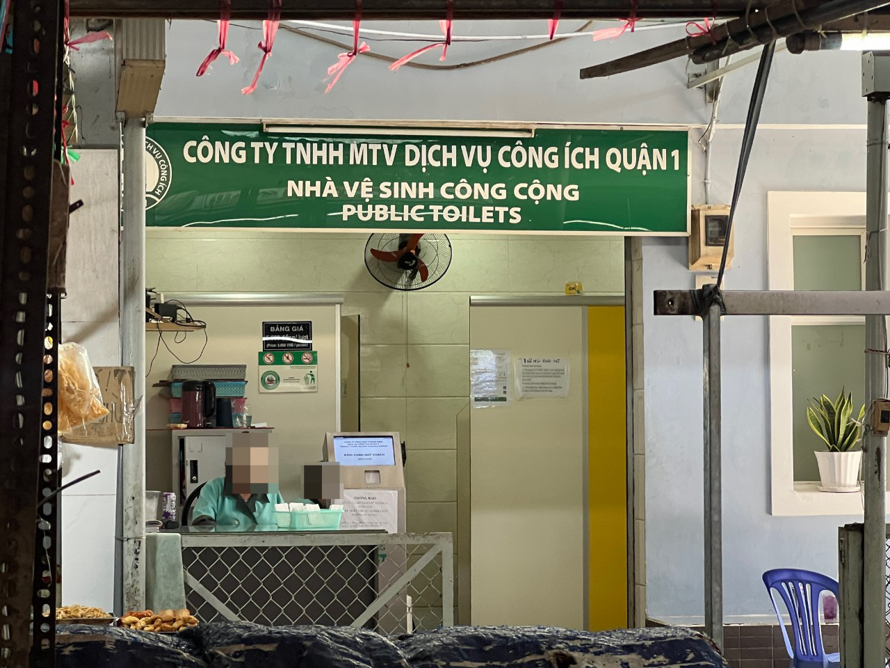
M753 9L775 4L759 0ZM284 0L284 20L352 20L355 0ZM721 17L745 13L746 0L639 0L636 15L641 19L688 18L711 16L715 6ZM563 19L626 18L627 0L564 0ZM218 19L219 0L71 0L74 17L132 18L162 17L165 19ZM364 0L361 16L365 20L439 20L445 18L446 3L442 0ZM231 18L262 20L269 12L268 0L234 0ZM457 20L549 19L554 14L554 0L461 0L454 7Z

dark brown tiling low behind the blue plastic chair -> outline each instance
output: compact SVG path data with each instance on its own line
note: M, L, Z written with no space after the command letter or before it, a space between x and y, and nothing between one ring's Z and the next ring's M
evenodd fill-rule
M698 628L700 631L700 627ZM794 636L787 630L791 643ZM822 626L826 653L837 652L837 624ZM790 659L777 624L724 626L724 657L731 668L789 668Z

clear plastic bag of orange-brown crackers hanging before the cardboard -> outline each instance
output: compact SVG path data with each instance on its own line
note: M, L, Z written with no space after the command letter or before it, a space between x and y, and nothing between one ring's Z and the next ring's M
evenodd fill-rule
M86 348L63 343L59 346L59 433L69 434L108 412Z

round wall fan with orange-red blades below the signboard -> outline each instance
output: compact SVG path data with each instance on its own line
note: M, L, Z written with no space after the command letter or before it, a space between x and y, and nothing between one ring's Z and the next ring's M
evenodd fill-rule
M365 266L387 288L419 290L441 279L451 264L444 234L371 234Z

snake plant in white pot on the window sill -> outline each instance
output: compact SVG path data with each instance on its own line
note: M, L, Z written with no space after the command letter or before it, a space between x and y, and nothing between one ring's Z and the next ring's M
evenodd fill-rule
M806 407L806 421L828 450L816 451L822 492L856 492L859 490L859 471L862 451L854 450L862 439L862 418L853 417L853 393L840 391L835 401L826 395L811 399Z

